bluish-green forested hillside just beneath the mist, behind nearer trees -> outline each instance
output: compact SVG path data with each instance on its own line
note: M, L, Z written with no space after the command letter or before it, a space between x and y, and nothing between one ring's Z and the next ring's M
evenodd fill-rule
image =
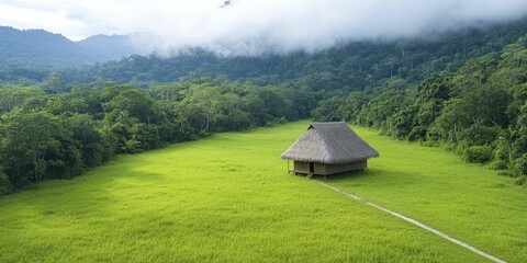
M147 87L150 82L187 81L225 75L258 85L287 84L328 94L365 91L397 77L418 83L433 72L457 71L468 59L500 52L527 33L527 19L461 28L419 38L344 43L318 53L218 57L194 48L170 58L132 56L90 67L49 69L0 65L0 82L40 83L55 73L66 83L100 79Z

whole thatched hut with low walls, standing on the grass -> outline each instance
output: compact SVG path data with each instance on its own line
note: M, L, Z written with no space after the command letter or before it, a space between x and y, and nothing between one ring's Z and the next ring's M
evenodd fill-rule
M327 175L367 167L379 152L346 123L313 123L281 158L294 161L295 173Z

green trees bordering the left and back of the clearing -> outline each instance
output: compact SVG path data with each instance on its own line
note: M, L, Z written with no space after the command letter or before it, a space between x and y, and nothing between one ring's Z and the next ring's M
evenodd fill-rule
M314 105L305 92L221 78L148 89L106 82L58 94L5 85L0 88L0 194L71 179L114 155L304 118Z

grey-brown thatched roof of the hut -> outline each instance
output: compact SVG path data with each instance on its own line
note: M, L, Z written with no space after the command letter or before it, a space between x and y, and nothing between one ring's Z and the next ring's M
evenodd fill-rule
M343 122L311 124L281 156L287 160L329 164L350 163L371 157L379 157L379 152Z

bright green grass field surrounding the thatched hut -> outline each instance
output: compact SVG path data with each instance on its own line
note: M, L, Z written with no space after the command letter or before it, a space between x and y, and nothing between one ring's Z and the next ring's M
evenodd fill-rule
M0 262L485 262L289 175L299 122L121 156L0 197ZM357 129L381 158L326 182L511 262L527 259L527 191L440 149Z

